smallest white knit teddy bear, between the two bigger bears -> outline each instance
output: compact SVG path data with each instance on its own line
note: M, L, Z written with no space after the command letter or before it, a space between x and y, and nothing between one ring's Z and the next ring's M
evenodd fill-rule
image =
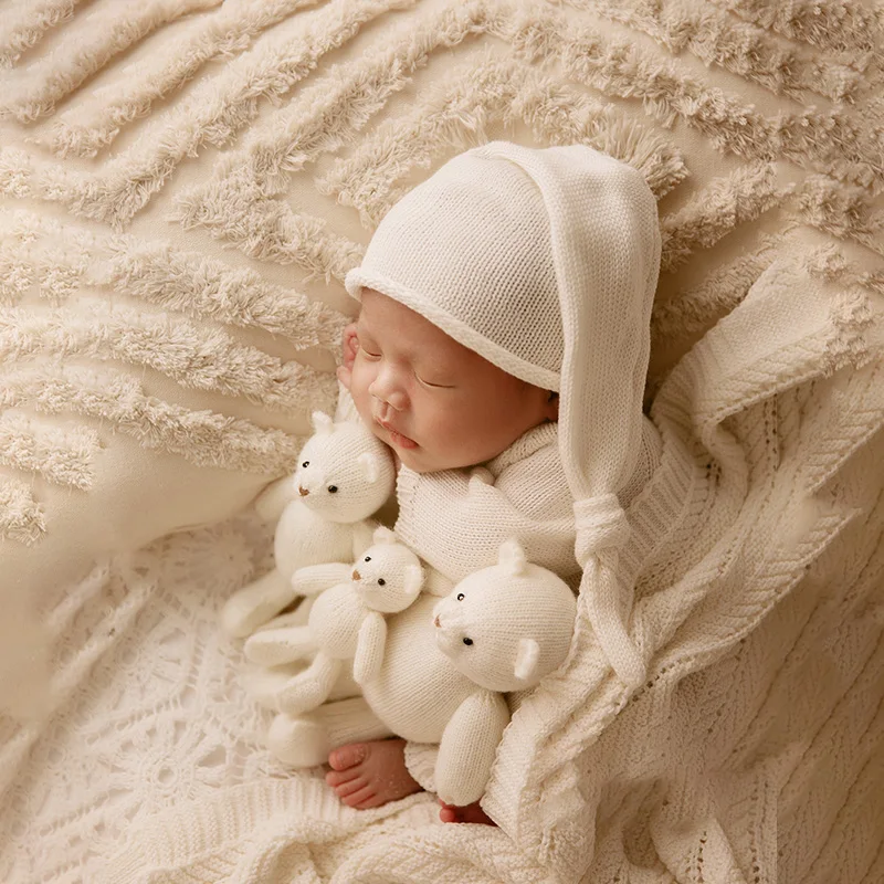
M378 674L387 641L383 614L403 611L414 601L423 583L423 568L389 528L379 526L372 539L375 545L354 562L350 580L316 598L307 625L262 630L246 641L245 656L262 665L316 654L276 695L282 712L297 715L324 703L345 661L352 660L359 685Z

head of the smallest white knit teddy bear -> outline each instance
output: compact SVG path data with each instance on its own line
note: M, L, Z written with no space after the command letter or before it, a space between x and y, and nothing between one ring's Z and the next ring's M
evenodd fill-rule
M372 540L373 546L354 562L354 589L373 611L404 611L423 585L421 560L389 528L378 527Z

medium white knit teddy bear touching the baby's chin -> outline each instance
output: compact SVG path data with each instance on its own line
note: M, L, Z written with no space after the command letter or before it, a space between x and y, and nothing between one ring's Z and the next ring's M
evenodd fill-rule
M254 632L298 596L339 582L341 564L352 561L371 543L375 523L368 517L396 486L390 449L364 423L336 423L322 411L312 417L314 434L290 480L297 496L285 505L276 525L275 568L234 592L221 612L224 631L234 638ZM326 564L337 567L325 568ZM316 567L293 586L295 571L305 566Z

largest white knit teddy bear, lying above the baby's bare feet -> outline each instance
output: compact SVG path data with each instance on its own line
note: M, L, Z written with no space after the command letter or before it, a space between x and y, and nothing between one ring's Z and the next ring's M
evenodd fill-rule
M534 687L564 662L576 612L568 585L528 564L508 540L497 565L464 578L442 600L423 593L390 618L383 662L364 697L302 717L278 715L267 744L294 767L322 764L351 739L397 734L439 744L436 793L471 804L485 791L509 722L502 694Z

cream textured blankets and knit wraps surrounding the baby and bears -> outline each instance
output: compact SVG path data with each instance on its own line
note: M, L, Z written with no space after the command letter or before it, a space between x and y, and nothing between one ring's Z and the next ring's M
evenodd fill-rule
M882 57L871 0L0 1L0 881L884 880ZM653 190L663 451L648 680L581 608L491 828L293 776L217 618L347 271L497 138Z

